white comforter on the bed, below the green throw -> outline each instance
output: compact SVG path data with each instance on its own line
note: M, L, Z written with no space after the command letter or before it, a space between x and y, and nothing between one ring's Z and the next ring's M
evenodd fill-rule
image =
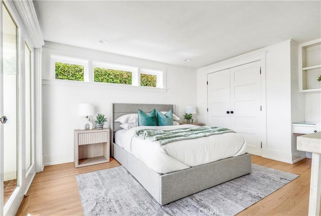
M198 127L196 125L139 126L129 130L118 130L115 142L149 168L158 173L169 173L216 160L238 156L245 153L246 142L237 133L224 133L159 144L159 141L138 139L134 131L141 128L171 129L177 127Z

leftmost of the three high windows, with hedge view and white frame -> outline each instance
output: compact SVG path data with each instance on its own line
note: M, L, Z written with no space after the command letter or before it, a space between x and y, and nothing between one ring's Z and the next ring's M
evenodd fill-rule
M63 56L52 56L52 74L56 80L89 81L88 61Z

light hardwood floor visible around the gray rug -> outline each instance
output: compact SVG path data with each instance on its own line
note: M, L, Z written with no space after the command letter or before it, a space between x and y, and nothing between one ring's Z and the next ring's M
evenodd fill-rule
M300 176L238 215L307 215L311 159L287 164L252 156L252 162ZM111 159L80 168L73 163L46 166L36 174L17 215L82 215L75 175L119 165Z

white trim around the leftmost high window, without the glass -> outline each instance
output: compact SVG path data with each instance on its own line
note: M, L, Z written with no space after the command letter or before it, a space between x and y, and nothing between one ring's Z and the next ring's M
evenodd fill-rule
M81 65L84 67L84 81L79 82L89 82L89 71L88 71L88 64L89 61L86 59L79 59L79 58L73 58L73 57L66 57L66 56L55 56L51 55L51 78L54 80L60 80L56 79L56 62L64 63L64 64L71 64L71 65ZM73 81L73 80L69 80Z

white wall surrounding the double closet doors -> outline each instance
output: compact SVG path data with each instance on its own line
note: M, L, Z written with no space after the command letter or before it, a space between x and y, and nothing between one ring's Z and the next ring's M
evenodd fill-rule
M292 121L304 121L304 95L298 92L297 45L291 40L198 69L197 105L204 110L199 119L207 121L207 74L256 61L258 57L255 56L260 52L266 53L266 101L262 101L262 110L266 113L266 140L262 137L262 156L292 163L304 155L296 151L292 135Z

